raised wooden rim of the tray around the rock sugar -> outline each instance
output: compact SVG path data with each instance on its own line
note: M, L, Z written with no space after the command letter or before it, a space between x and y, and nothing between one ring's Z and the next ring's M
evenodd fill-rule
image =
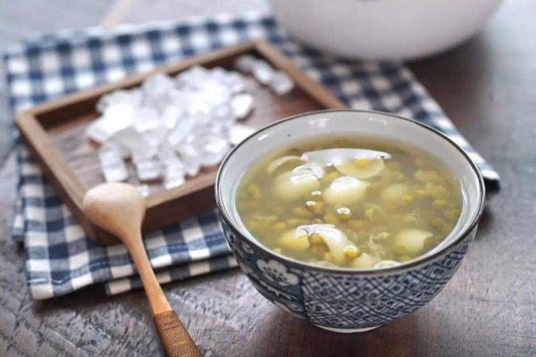
M76 104L77 102L86 100L90 97L104 95L115 89L138 86L144 79L156 72L182 71L195 64L203 65L206 62L213 62L223 57L247 53L252 50L262 54L264 59L272 62L272 65L276 68L287 72L296 82L297 87L301 87L307 94L311 95L317 102L326 108L336 109L345 107L345 104L339 101L337 97L314 81L314 79L309 78L305 72L299 70L297 66L284 54L281 54L275 46L272 46L272 44L264 40L260 40L221 48L208 54L198 54L181 60L180 62L172 62L157 67L152 71L139 73L126 79L90 88L79 93L65 95L61 98L38 104L27 111L17 114L15 122L17 127L21 130L21 136L30 151L38 156L38 164L41 169L43 169L50 185L54 187L64 202L71 208L73 215L79 221L82 228L84 228L86 234L93 238L96 243L112 245L119 243L119 241L105 230L90 224L86 219L82 211L83 197L86 192L85 187L83 187L80 180L76 178L67 162L63 160L62 154L54 148L54 145L50 144L46 131L43 129L39 120L37 120L37 116L57 110L65 105ZM61 170L52 170L52 165ZM146 197L147 216L142 227L143 232L147 233L156 228L163 227L163 224L157 224L156 221L158 217L162 222L163 212L166 210L177 212L172 216L172 219L169 219L169 221L164 220L165 224L169 224L174 221L186 219L197 213L204 212L210 208L214 208L215 175L215 172L205 174L202 181L195 188L176 187ZM212 195L212 197L210 195ZM191 204L180 202L180 199L186 200L187 197ZM208 204L203 205L200 204L200 202L207 202ZM179 214L180 212L184 212L184 209L188 209L188 213Z

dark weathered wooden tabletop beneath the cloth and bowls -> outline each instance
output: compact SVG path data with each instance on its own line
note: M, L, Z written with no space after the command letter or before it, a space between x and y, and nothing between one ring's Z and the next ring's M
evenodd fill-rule
M163 0L152 4L118 0L113 4L96 1L80 15L76 7L88 2L54 0L50 3L61 12L41 11L33 17L25 15L25 21L13 20L17 6L32 8L34 3L38 4L29 0L10 2L10 6L0 3L0 9L5 7L0 11L0 44L4 45L5 38L19 36L28 29L28 23L36 23L35 29L62 23L75 26L70 13L79 14L76 23L81 25L153 20L158 18L154 9L158 6L168 17L179 18L185 13L177 6L170 7L174 12L164 11ZM247 8L244 3L229 2L239 10ZM181 6L195 7L195 2L185 1ZM172 306L205 355L536 354L534 14L533 0L508 1L470 42L447 54L410 64L448 116L502 177L500 195L488 205L470 252L443 292L423 309L388 326L359 335L338 335L272 306L239 270L164 286ZM6 30L9 21L12 25ZM0 87L0 95L5 95L4 87ZM5 99L0 99L1 124L6 128L10 116ZM101 287L93 286L54 300L30 299L21 247L13 245L9 237L16 166L13 147L5 144L9 143L8 134L5 129L1 131L0 156L5 159L0 170L0 356L160 355L143 291L108 297Z

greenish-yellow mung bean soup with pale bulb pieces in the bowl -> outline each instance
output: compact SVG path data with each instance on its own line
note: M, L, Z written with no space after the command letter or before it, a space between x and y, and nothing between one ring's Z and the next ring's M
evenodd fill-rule
M411 146L321 137L265 154L241 179L236 205L247 230L276 253L381 269L439 245L462 195L440 162Z

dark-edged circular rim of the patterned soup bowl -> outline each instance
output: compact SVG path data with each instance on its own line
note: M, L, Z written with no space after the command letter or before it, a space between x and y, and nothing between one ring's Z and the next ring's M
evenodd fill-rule
M456 238L456 240L449 245L444 246L441 248L438 252L433 253L431 255L425 256L423 258L416 258L414 262L408 262L408 263L402 263L395 267L390 268L383 268L383 269L360 269L360 268L339 268L339 267L322 267L320 265L314 265L307 262L300 262L297 260L294 260L292 258L289 258L285 255L282 255L280 253L272 252L269 248L262 245L260 242L257 242L250 237L247 237L246 234L242 233L241 229L237 228L233 221L230 219L230 214L226 210L225 205L222 202L222 196L221 192L222 190L220 187L222 186L222 172L225 170L225 167L228 165L230 160L232 160L232 156L235 152L237 152L241 145L244 145L249 140L251 140L253 137L255 137L257 134L267 130L271 129L272 127L281 125L283 122L287 122L289 120L297 120L299 118L315 115L315 114L322 114L322 113L332 113L332 112L360 112L360 113L369 113L369 114L381 114L386 115L392 118L397 118L400 120L406 120L410 125L417 125L422 127L423 129L428 129L431 131L432 134L435 134L436 136L442 138L443 140L446 140L450 145L453 145L462 156L464 156L465 161L469 164L469 167L473 170L474 174L476 175L477 181L478 181L478 191L480 195L480 202L478 203L476 214L473 217L473 220L469 223L468 227L465 228L463 231L459 233L459 237ZM338 274L351 274L351 275L362 275L362 276L377 276L377 275L389 275L392 273L399 273L406 270L414 270L415 268L419 268L423 265L426 265L430 262L433 262L437 259L439 259L441 256L446 255L447 253L450 253L454 248L456 248L457 245L460 245L463 241L465 241L465 238L473 232L473 229L477 227L478 222L482 218L482 212L484 210L485 201L486 201L486 190L484 186L484 180L482 179L482 174L480 170L478 170L476 164L471 160L469 155L465 152L465 150L460 146L457 145L450 137L440 132L438 129L434 129L431 126L424 124L423 122L412 120L397 114L389 113L389 112L381 112L381 111L372 111L372 110L359 110L359 109L327 109L327 110L319 110L319 111L313 111L313 112L303 112L296 115L289 116L287 118L274 121L266 126L264 126L261 129L256 130L253 134L246 137L244 140L242 140L238 145L235 145L231 148L230 152L225 156L225 158L222 160L222 163L220 164L220 167L218 168L218 172L216 174L215 179L215 185L214 185L214 195L216 199L216 206L218 208L218 212L220 213L220 217L222 220L225 221L225 223L234 231L237 236L242 237L247 240L247 243L255 245L258 249L260 249L262 252L266 253L268 256L271 256L273 258L276 258L278 260L281 260L285 263L288 263L291 266L296 266L299 269L306 269L306 270L319 270L322 272L327 273L338 273Z

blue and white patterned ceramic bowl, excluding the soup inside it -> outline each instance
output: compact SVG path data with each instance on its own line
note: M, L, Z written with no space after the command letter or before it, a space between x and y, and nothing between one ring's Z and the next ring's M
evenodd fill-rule
M274 253L245 228L235 207L244 172L260 156L290 142L321 135L392 138L433 155L459 180L464 206L442 245L411 262L383 270L323 268ZM437 295L473 241L484 206L482 177L448 137L413 120L382 112L310 112L260 129L237 145L216 178L222 228L241 270L255 288L284 311L338 332L376 328L415 311Z

